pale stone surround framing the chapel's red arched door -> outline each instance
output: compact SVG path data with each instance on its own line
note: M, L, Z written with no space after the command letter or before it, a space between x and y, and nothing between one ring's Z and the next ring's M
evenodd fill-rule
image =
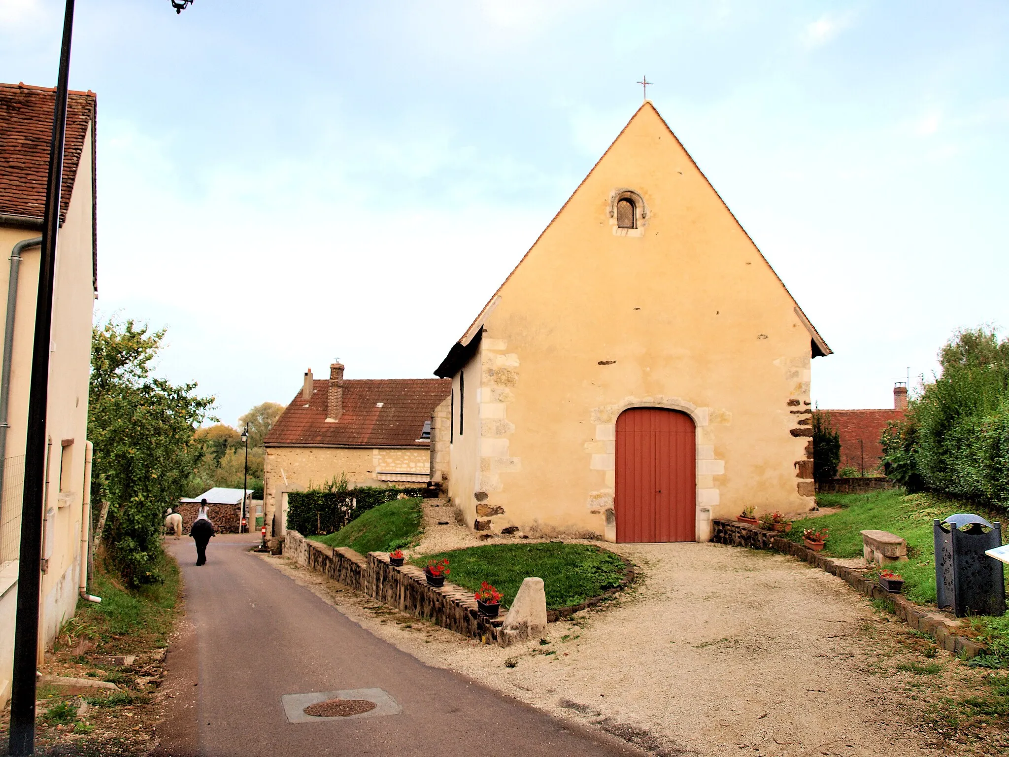
M606 541L616 541L616 514L613 503L616 477L616 419L621 413L631 408L660 408L686 413L694 422L695 427L695 464L696 464L696 499L695 499L695 540L710 541L711 539L711 507L719 502L718 488L714 484L715 475L723 475L725 461L714 456L714 438L709 425L710 408L699 408L693 403L678 397L628 397L622 402L595 408L591 413L595 424L593 441L586 448L596 448L601 443L606 451L592 452L589 456L589 468L602 470L605 474L604 489L589 494L588 505L592 510L605 508L605 527L603 538Z

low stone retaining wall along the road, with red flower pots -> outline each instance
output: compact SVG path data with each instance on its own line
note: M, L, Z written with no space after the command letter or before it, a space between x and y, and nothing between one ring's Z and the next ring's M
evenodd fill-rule
M396 567L384 552L366 557L349 547L327 547L289 530L284 554L304 567L317 570L385 605L436 623L464 636L496 643L503 617L493 620L477 612L469 589L455 583L429 586L424 570L414 565Z

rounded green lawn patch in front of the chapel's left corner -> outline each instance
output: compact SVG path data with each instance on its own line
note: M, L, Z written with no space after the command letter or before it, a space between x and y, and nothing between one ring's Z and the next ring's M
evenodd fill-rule
M547 607L577 605L620 585L626 566L612 552L590 544L488 544L425 555L415 565L429 559L449 560L449 580L476 590L482 581L502 596L502 606L511 605L524 578L543 578Z

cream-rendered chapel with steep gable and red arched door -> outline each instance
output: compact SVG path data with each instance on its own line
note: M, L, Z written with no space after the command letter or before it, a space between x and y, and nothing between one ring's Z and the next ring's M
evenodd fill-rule
M435 370L448 494L477 530L622 542L808 510L829 353L646 101Z

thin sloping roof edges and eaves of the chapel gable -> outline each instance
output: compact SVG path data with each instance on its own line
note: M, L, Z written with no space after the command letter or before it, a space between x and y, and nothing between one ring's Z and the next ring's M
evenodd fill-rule
M526 258L529 257L529 255L533 252L533 250L536 249L536 245L540 243L540 240L543 238L543 235L547 233L547 231L550 229L551 226L554 225L554 222L564 212L564 209L567 208L568 204L571 202L572 199L574 199L575 195L578 194L578 191L582 188L585 182L588 181L588 178L592 176L592 173L595 171L595 169L599 166L600 163L602 163L605 156L609 154L609 151L613 148L613 145L616 144L618 141L620 141L620 138L624 135L624 132L628 130L628 127L631 126L631 124L634 123L635 119L637 119L646 109L651 110L652 113L658 116L659 120L662 122L663 126L666 127L666 130L669 132L670 136L673 137L673 139L676 141L676 144L680 147L680 149L683 150L684 154L687 156L690 163L693 164L693 167L697 170L697 173L700 174L701 178L714 193L715 197L718 198L718 201L721 203L722 207L724 207L725 211L732 216L733 220L736 222L736 225L739 226L740 230L746 235L750 243L753 244L753 247L757 251L757 254L761 256L761 259L774 275L775 279L778 280L778 283L781 285L782 289L785 290L785 294L792 301L792 304L795 307L796 315L799 317L799 320L802 322L803 326L805 326L806 329L809 331L809 336L812 340L812 346L813 346L813 356L814 357L825 356L832 353L833 350L831 350L830 347L827 346L826 341L824 341L823 337L820 336L819 332L806 317L806 314L802 312L802 308L800 308L799 304L795 302L795 298L792 297L792 293L788 291L787 287L785 287L785 283L781 281L781 277L779 277L778 274L774 271L774 268L771 266L771 263L768 262L768 259L764 257L764 253L760 251L760 248L754 242L753 238L750 236L749 233L747 233L747 230L743 228L743 224L740 223L739 219L736 217L736 214L734 214L733 211L728 208L728 205L725 204L725 201L722 199L721 195L718 194L718 191L714 188L714 186L711 184L708 178L704 175L704 172L700 170L699 166L697 166L697 163L693 159L693 156L687 151L686 147L683 146L683 143L679 140L679 137L677 137L676 134L673 133L673 130L669 127L669 124L666 122L666 119L662 117L662 114L659 113L658 109L655 107L655 105L652 104L651 100L646 100L644 103L642 103L641 107L634 112L634 115L631 116L631 119L624 125L624 128L621 129L621 133L619 133L616 137L613 139L613 141L609 143L609 146L606 147L606 150L601 155L599 155L599 159L595 161L595 164L592 166L592 169L588 172L588 174L585 175L585 178L581 180L581 182L578 184L577 187L575 187L574 192L572 192L571 195L568 197L568 199L565 200L564 204L560 207L560 210L558 210L557 213L554 214L554 217L550 220L550 223L547 224L546 228L540 232L540 235L538 237L536 237L536 241L533 242L533 245L528 250L526 250L526 254L524 254L522 256L522 259L519 260L519 262L516 264L514 268L512 268L512 273L510 273L508 277L506 277L504 281L501 282L500 286L494 291L494 294L491 295L489 300L487 300L487 304L483 306L483 308L480 310L479 313L477 313L476 318L473 319L473 322L469 325L469 328L467 328L466 331L463 333L463 335L459 337L459 339L456 341L456 343L452 345L448 354L445 355L445 358L441 361L438 367L435 368L434 370L435 375L438 376L454 375L456 371L459 369L459 367L462 364L465 364L465 361L468 360L469 356L472 354L475 348L474 337L482 333L482 325L489 317L493 309L497 306L497 303L500 300L500 293L501 290L504 289L504 285L509 283L512 277L515 276L515 272L519 269L519 266L521 266L522 263L526 261Z

